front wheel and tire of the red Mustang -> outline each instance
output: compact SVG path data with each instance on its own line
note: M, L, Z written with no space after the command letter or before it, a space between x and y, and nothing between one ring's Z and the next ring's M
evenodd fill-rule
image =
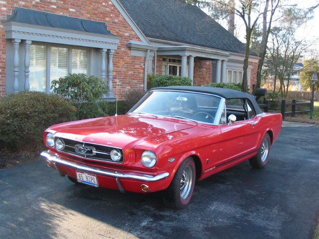
M193 195L196 179L195 163L186 158L177 169L169 187L163 193L166 206L174 209L185 208Z

